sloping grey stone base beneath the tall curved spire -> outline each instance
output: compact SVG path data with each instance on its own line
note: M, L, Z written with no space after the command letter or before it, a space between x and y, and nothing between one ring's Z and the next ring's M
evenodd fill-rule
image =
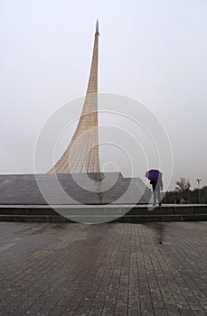
M146 204L151 191L121 172L0 175L0 205Z

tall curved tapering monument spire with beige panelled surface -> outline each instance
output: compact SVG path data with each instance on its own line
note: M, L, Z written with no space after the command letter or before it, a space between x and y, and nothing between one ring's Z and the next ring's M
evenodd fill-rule
M94 173L99 170L98 136L99 20L93 47L89 84L79 124L71 143L49 173Z

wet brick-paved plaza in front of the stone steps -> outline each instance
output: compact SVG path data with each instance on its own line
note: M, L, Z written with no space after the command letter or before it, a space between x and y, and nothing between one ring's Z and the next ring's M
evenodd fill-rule
M207 222L0 222L0 316L206 315Z

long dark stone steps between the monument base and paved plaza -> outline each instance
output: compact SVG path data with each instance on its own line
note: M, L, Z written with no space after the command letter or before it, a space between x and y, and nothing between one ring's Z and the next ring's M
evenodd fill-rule
M130 209L130 207L132 209ZM128 210L129 209L129 210ZM164 205L148 209L147 205L70 205L56 206L57 212L50 206L0 206L1 221L36 222L144 222L144 221L190 221L207 220L207 205Z

